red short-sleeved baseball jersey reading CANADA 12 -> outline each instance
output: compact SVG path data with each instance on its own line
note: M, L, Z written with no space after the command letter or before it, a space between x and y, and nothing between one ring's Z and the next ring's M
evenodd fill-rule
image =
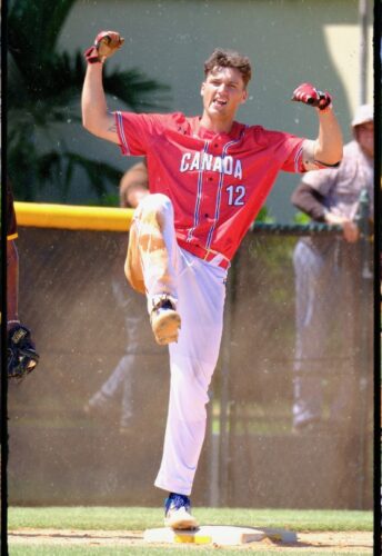
M233 122L230 133L200 126L200 117L115 112L123 155L145 156L152 193L174 208L179 245L231 259L280 170L301 172L304 139Z

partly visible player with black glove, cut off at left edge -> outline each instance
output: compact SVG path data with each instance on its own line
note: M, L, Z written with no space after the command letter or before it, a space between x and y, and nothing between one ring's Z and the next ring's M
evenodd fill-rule
M21 380L39 363L30 330L19 320L19 255L13 196L7 180L7 330L8 330L8 378Z

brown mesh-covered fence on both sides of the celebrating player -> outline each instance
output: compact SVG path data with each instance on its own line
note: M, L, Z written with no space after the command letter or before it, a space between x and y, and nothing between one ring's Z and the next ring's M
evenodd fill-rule
M168 353L125 282L127 240L19 229L20 316L41 359L9 384L10 505L162 503ZM321 225L248 234L229 276L194 505L372 507L371 251L366 229L355 245ZM313 257L313 278L306 254L324 259Z

